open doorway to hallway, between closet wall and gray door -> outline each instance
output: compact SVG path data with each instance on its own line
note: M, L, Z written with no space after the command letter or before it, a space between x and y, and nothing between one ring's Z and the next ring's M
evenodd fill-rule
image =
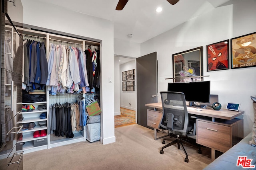
M132 83L136 85L136 58L114 56L115 127L137 123L136 86L134 86L134 91L126 90L126 86L123 86L123 84L126 85L128 80L123 80L122 74L129 70L134 71ZM128 84L130 84L130 81Z

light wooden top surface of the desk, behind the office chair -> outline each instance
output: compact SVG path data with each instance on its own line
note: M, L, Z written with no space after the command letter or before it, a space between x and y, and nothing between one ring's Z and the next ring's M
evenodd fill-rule
M162 109L161 102L145 104L145 106ZM238 117L238 116L244 114L244 111L231 111L228 109L214 110L214 109L210 108L210 109L202 109L202 111L188 110L188 113L194 114L194 115L200 115L200 116L208 116L208 117L232 120L235 117Z

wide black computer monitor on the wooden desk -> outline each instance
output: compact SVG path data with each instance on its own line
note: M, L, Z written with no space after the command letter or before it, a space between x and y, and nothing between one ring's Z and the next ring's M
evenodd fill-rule
M168 92L182 92L186 101L210 104L210 81L168 83Z

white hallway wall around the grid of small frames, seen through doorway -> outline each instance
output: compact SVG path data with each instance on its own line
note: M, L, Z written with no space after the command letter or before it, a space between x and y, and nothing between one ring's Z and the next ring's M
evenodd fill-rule
M136 68L136 60L120 65L120 107L136 110L136 91L122 91L122 72ZM136 71L136 70L135 70ZM134 82L136 84L136 82ZM136 90L136 86L135 86ZM131 104L131 105L129 105Z

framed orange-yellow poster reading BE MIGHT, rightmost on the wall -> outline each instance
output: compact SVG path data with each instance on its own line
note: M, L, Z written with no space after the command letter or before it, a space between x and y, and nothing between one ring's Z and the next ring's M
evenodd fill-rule
M256 66L256 32L231 39L231 69Z

